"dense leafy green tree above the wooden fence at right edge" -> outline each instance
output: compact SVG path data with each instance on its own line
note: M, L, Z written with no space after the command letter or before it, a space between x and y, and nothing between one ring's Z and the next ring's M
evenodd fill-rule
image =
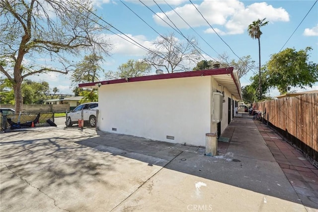
M267 63L267 78L270 85L277 87L281 94L285 94L288 87L312 87L318 82L318 65L309 61L311 50L311 47L299 51L287 48L271 55Z

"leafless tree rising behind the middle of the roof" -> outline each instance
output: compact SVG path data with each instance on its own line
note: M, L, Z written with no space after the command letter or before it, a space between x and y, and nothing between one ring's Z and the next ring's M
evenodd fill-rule
M196 64L200 58L200 52L194 47L197 45L194 37L187 37L186 41L182 42L171 33L162 35L153 45L154 48L145 61L167 73L187 71L189 64Z

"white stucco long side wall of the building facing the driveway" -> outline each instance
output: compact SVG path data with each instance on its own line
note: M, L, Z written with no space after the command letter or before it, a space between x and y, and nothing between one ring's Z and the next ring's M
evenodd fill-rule
M105 85L98 101L103 131L198 146L210 132L210 76Z

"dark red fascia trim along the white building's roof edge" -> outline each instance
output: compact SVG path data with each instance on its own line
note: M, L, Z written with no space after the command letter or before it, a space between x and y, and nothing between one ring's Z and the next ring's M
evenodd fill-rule
M100 82L94 82L94 83L82 83L82 84L79 84L79 87L95 86L98 83L100 83L101 85L107 85L107 84L117 84L117 83L127 83L127 82L174 79L174 78L183 78L183 77L212 76L212 75L221 75L221 74L231 74L232 78L233 78L233 69L234 69L233 67L229 67L229 68L221 68L221 69L150 75L150 76L133 77L133 78L127 78L127 79L118 79L118 80L107 80L107 81L100 81ZM236 83L236 81L235 81L235 83ZM237 85L237 87L238 87L238 85Z

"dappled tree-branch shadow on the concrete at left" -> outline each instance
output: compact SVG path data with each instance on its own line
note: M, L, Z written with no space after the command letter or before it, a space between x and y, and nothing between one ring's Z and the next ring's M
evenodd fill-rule
M54 134L46 137L38 135L37 139L35 138L37 135L33 132L12 132L1 135L1 206L4 206L5 200L14 199L17 194L27 191L31 182L36 182L31 186L40 191L32 194L34 199L42 196L47 187L58 188L72 184L81 188L83 183L92 180L87 179L87 175L98 176L99 170L113 168L112 162L102 155L96 155L100 158L92 158L90 147L70 142L70 139L89 140L92 135L78 137L70 133L58 137L54 137ZM6 141L9 137L14 137L14 140ZM83 150L87 150L87 153ZM94 161L97 160L103 163L95 163ZM9 180L16 179L25 183L8 183ZM103 179L99 179L101 180ZM104 180L102 183L108 182Z

